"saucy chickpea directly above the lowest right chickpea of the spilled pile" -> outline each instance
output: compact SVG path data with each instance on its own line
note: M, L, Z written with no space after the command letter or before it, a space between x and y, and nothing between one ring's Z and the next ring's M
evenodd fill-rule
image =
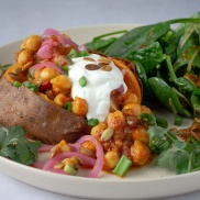
M147 130L143 126L138 126L133 132L133 141L141 141L144 144L148 144L149 135L147 134Z

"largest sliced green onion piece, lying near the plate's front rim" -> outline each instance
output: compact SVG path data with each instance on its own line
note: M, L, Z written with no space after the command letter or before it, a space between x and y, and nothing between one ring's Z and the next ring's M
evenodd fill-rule
M120 177L123 177L131 165L132 165L131 159L129 159L125 155L122 155L115 168L113 169L113 173L119 175Z

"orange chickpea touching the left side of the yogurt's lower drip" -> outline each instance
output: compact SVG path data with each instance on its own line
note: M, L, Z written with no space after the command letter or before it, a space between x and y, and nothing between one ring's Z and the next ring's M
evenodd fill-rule
M85 99L75 97L73 101L73 112L79 116L86 116L88 112L88 103Z

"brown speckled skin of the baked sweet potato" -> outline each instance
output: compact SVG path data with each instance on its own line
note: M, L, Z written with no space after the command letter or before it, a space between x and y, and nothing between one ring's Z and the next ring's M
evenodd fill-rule
M25 87L0 79L0 124L24 126L29 137L45 144L75 142L89 134L87 120L49 103Z

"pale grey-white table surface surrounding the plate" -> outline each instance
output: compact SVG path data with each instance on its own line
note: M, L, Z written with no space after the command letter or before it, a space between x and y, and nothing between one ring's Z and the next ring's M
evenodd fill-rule
M0 0L0 46L47 27L155 23L187 18L200 0ZM27 186L0 174L0 200L78 200ZM199 200L200 191L165 200Z

